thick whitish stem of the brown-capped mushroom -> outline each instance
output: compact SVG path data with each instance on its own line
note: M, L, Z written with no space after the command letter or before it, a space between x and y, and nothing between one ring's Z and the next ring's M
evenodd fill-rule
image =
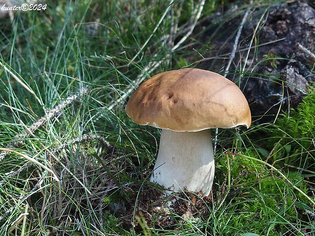
M210 129L175 132L163 129L150 181L173 191L211 192L214 158Z

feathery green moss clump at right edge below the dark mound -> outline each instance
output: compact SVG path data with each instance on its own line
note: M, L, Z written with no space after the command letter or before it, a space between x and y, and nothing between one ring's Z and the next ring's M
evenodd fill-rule
M271 159L278 167L295 166L315 171L315 90L310 89L303 102L282 114L270 133Z

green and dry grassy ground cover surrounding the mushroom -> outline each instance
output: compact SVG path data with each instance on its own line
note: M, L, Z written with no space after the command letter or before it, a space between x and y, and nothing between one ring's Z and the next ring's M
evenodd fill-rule
M258 2L251 14L271 6L218 25ZM148 182L160 131L133 123L125 102L150 76L203 60L213 25L201 25L223 4L49 2L3 20L1 235L315 234L312 90L275 124L219 131L211 196L183 191L169 211Z

